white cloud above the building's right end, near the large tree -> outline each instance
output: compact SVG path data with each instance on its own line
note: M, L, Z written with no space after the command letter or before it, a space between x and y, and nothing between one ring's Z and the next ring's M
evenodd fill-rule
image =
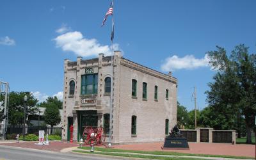
M205 54L204 58L201 59L196 59L193 55L187 55L183 58L179 58L178 56L174 55L164 60L164 63L161 65L161 70L168 72L179 69L195 69L208 66L209 58L207 54Z

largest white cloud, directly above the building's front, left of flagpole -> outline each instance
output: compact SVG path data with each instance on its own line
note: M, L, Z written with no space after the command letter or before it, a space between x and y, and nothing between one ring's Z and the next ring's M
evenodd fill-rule
M87 39L79 31L65 33L57 36L54 40L56 47L61 47L63 51L74 52L77 56L97 56L99 53L111 54L109 45L100 45L95 38ZM113 49L120 50L118 44L114 44Z

